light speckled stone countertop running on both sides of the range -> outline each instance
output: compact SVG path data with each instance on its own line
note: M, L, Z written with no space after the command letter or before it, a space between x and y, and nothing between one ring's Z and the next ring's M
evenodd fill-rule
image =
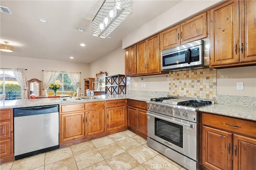
M36 106L49 106L58 104L75 104L86 102L97 102L102 100L116 100L116 99L132 99L142 102L150 101L150 98L154 96L139 96L139 95L101 95L95 96L97 99L88 100L74 100L64 101L64 98L41 98L41 99L27 99L27 100L5 100L0 101L0 109L18 108L18 107L36 107ZM237 117L242 119L248 119L256 121L256 108L255 107L243 107L223 104L212 104L210 106L200 107L199 111L205 111L208 113L215 113L219 115L226 115L230 117Z

